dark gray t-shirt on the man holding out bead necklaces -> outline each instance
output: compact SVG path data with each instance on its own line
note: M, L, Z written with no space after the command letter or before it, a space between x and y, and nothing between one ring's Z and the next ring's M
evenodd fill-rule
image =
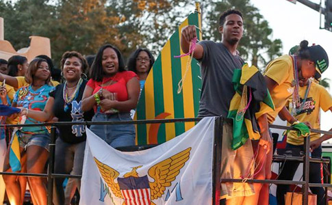
M231 79L235 68L242 68L243 59L232 55L222 43L202 41L204 53L201 62L202 92L198 117L227 116L235 94Z

